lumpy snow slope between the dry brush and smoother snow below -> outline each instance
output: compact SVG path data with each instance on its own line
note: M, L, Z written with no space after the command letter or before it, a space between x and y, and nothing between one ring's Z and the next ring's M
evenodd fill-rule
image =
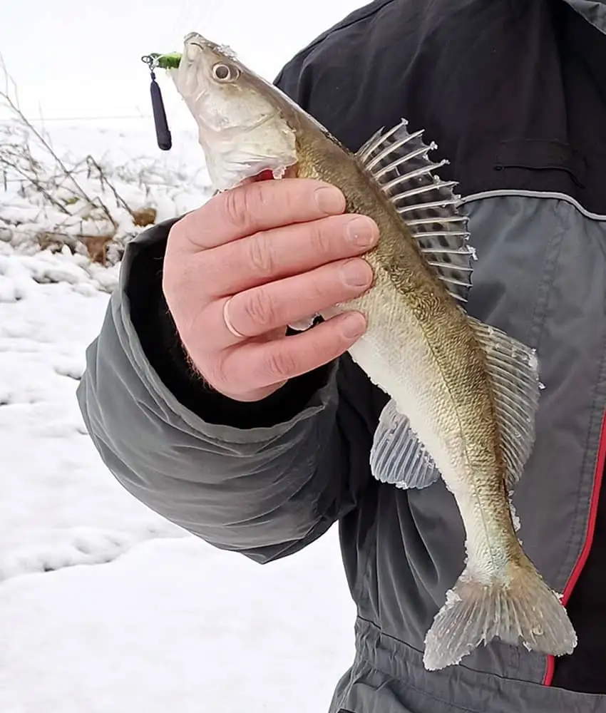
M0 302L0 581L176 531L123 496L88 440L75 391L108 295L84 271L81 284L69 269L62 279L63 267L74 267L66 256L0 255L2 294L19 297ZM57 282L36 282L43 272Z

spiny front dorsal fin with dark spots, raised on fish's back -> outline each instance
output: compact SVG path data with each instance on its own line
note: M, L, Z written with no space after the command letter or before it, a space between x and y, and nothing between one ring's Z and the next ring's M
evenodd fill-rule
M402 119L386 133L381 128L356 155L394 203L448 292L466 302L476 254L468 245L467 217L458 212L456 183L436 176L448 161L432 163L428 153L436 144L426 145L423 130L409 133L407 125Z

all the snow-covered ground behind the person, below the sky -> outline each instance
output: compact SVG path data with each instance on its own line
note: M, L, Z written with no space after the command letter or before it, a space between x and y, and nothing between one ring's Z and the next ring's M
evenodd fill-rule
M160 219L207 198L190 134L168 155L147 124L56 129L53 145L103 158ZM148 192L133 178L145 167ZM0 711L327 709L353 654L336 530L261 567L123 491L75 397L119 264L41 252L36 226L52 227L52 212L0 180L0 226L16 213L13 234L0 231Z

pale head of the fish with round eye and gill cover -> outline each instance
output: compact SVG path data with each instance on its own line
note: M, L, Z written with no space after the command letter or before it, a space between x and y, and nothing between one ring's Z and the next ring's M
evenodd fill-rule
M190 33L171 74L197 122L215 189L233 188L266 170L279 178L297 163L294 108L230 48Z

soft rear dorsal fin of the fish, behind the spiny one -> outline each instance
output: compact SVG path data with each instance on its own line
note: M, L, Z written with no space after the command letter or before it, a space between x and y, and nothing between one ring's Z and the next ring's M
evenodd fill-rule
M535 442L540 397L539 362L534 349L473 317L469 323L483 347L495 396L505 482L513 491Z

